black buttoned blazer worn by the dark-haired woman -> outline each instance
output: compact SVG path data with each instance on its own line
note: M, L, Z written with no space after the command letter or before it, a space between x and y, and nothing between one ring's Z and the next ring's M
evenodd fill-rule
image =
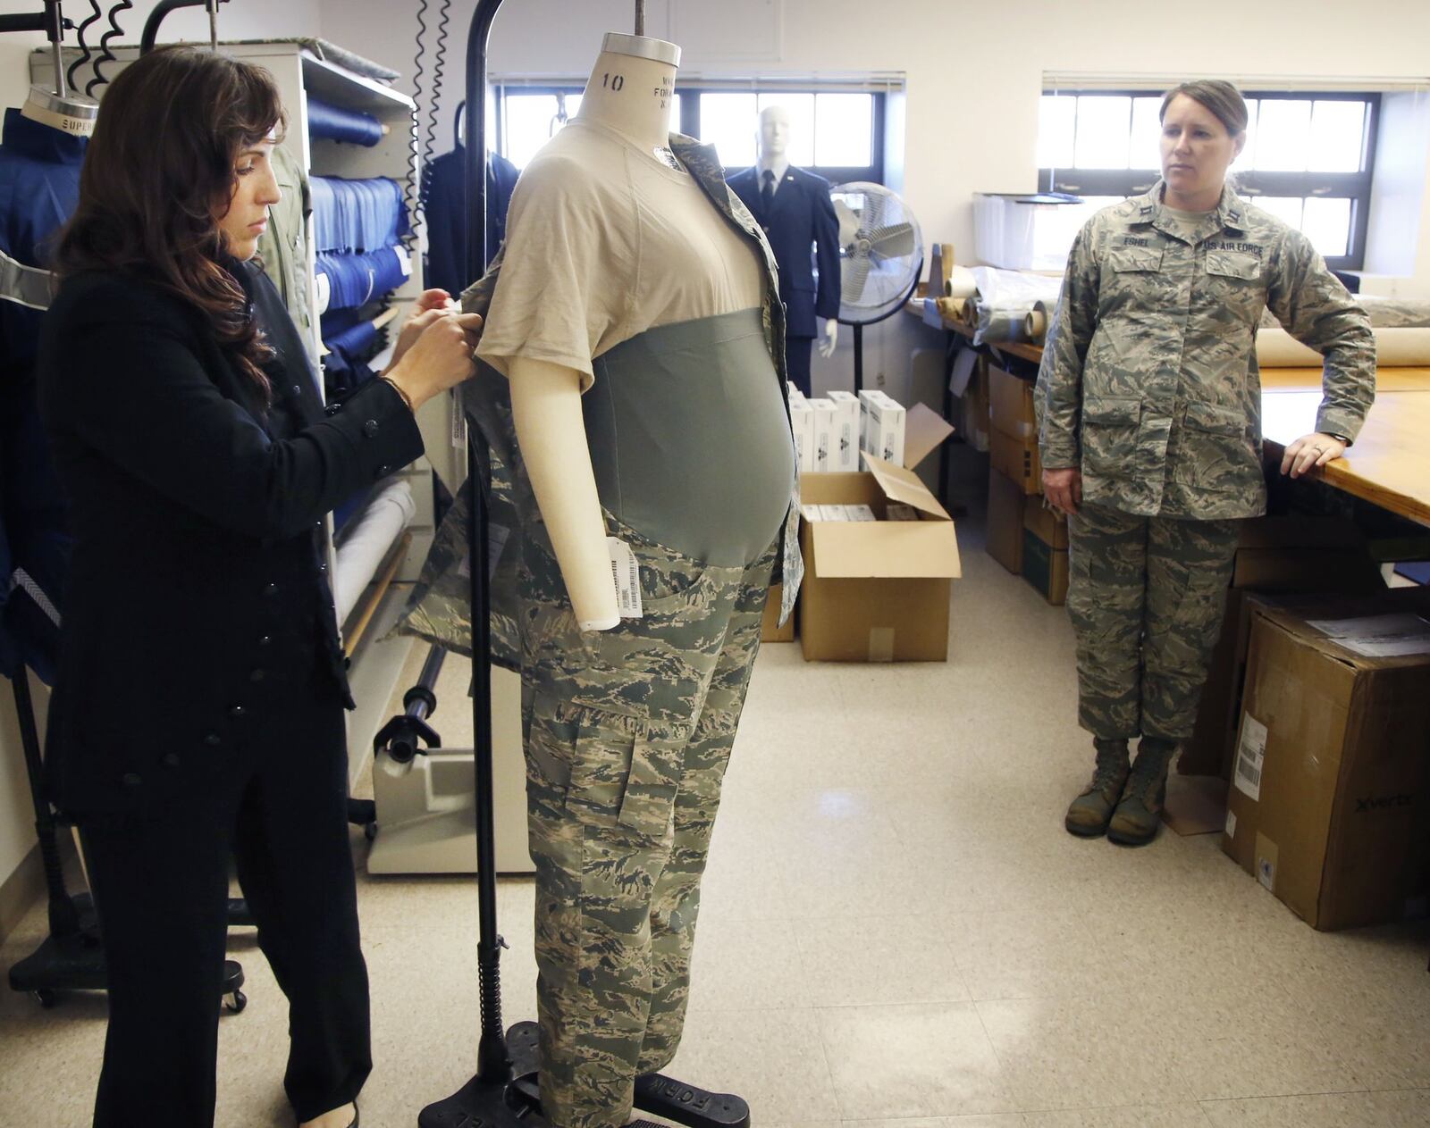
M325 413L273 285L232 269L279 352L267 410L206 317L136 276L77 274L44 319L40 415L74 536L46 779L69 812L212 785L263 725L266 676L350 706L322 518L422 437L383 380Z

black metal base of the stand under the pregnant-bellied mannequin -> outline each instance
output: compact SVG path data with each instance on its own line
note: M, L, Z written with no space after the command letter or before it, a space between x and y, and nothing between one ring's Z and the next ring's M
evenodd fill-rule
M419 1128L536 1128L541 1115L536 1084L539 1028L518 1022L506 1034L513 1079L505 1084L472 1078L445 1101L428 1105ZM728 1092L706 1092L664 1074L645 1074L635 1081L635 1107L688 1128L749 1128L749 1105Z

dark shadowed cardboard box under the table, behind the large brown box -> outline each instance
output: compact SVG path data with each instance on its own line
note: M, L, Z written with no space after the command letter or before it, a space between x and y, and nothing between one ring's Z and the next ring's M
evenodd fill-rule
M1197 726L1183 743L1183 775L1231 778L1251 620L1248 592L1374 593L1384 589L1360 530L1338 518L1280 516L1241 522L1221 635L1201 691Z

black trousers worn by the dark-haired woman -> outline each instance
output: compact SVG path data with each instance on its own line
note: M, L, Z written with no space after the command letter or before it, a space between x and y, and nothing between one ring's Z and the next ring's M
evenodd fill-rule
M250 719L240 746L172 768L194 772L186 801L79 816L109 962L94 1128L212 1128L230 858L287 995L299 1121L355 1099L372 1069L342 705L305 685Z

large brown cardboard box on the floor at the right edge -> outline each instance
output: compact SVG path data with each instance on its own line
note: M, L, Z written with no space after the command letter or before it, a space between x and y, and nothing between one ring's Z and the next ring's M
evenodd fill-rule
M1407 652L1369 642L1384 616ZM1256 600L1221 848L1317 929L1401 919L1426 889L1426 616L1414 589Z

